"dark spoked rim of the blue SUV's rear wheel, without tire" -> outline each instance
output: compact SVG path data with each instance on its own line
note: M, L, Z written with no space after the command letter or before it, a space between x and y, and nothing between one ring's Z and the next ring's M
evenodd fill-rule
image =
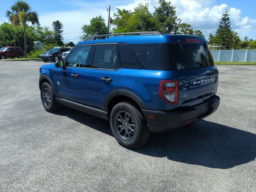
M136 126L128 112L121 111L116 114L115 128L118 135L126 141L132 140L135 136Z

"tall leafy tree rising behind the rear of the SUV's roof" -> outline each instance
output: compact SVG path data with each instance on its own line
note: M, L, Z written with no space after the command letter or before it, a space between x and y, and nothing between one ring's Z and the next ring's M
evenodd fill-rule
M171 5L171 2L165 0L159 0L159 7L154 7L154 18L157 21L158 31L163 34L169 34L174 31L177 26L177 16L175 7Z

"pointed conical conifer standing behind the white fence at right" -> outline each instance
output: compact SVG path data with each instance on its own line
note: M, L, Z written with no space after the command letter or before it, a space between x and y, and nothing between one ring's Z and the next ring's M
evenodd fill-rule
M222 46L222 49L229 49L232 44L232 32L229 21L229 14L226 10L220 20L219 28L216 32L217 44Z

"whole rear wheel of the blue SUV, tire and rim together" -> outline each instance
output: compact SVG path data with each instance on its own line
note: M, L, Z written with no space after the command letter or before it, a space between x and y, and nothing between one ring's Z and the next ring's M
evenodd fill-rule
M144 117L129 101L114 106L110 114L110 126L118 143L129 149L143 145L150 135Z

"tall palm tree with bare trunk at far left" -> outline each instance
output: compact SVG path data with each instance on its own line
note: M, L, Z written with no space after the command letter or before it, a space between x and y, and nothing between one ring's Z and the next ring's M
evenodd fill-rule
M27 34L26 34L26 22L31 22L32 25L39 24L38 14L32 11L29 4L24 1L17 1L10 8L11 10L6 11L6 16L9 18L12 26L16 28L18 25L23 25L24 30L24 53L25 58L27 57Z

